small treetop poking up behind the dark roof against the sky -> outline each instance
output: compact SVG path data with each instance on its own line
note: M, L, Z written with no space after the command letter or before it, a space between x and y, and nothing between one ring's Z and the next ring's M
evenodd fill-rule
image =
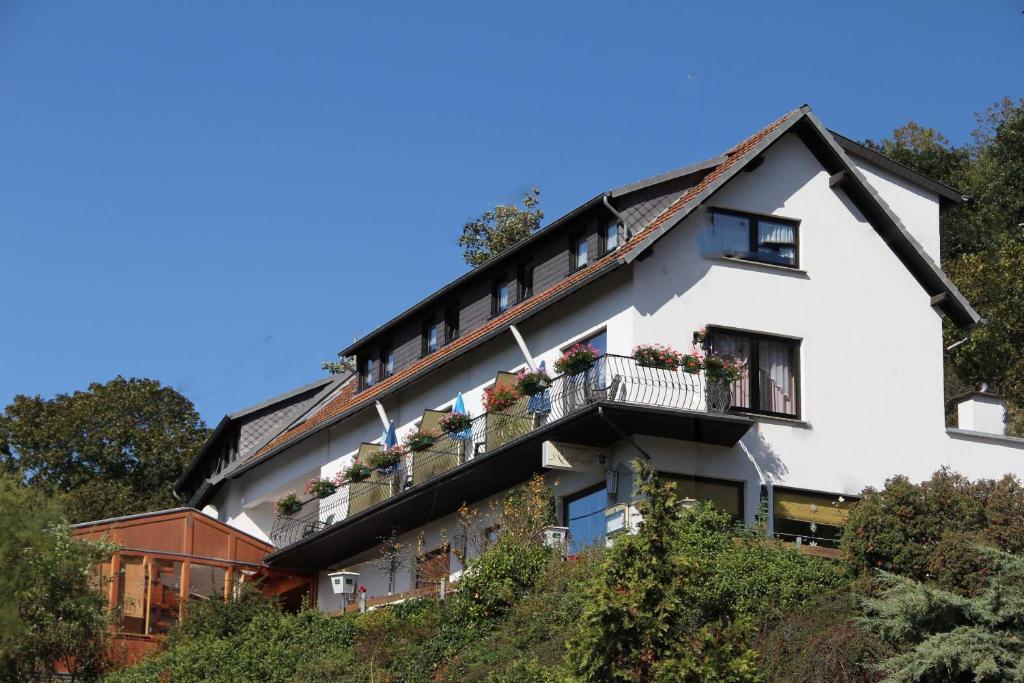
M541 190L522 196L522 208L499 204L462 226L459 246L463 259L472 266L486 263L506 249L522 242L541 227L544 212L537 208Z

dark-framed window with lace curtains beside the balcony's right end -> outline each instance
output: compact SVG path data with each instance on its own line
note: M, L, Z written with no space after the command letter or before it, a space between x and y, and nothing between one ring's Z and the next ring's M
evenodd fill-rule
M800 342L749 332L711 330L711 348L744 366L732 385L732 408L751 413L800 417Z

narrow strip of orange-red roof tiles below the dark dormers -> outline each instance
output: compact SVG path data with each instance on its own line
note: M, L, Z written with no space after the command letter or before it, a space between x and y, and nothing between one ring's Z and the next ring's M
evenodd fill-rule
M546 301L552 299L556 294L563 292L564 290L572 287L577 283L586 280L591 274L594 274L598 270L602 269L611 261L624 258L630 252L640 247L644 238L648 237L658 227L664 225L669 221L675 214L677 214L683 207L685 207L693 198L697 197L702 193L709 185L711 185L715 180L717 180L723 173L725 173L729 168L734 166L743 156L750 152L759 142L764 140L768 135L770 135L776 128L778 128L793 113L786 114L777 121L771 123L767 127L758 131L751 137L746 138L736 146L729 150L727 153L728 159L722 162L720 165L715 167L715 169L705 176L700 182L698 182L693 187L686 190L679 199L673 202L662 214L650 222L645 228L635 233L628 243L623 245L623 249L620 251L612 252L605 255L604 257L598 259L586 268L570 274L568 278L560 281L557 285L539 292L529 299L512 306L507 311L495 318L488 321L485 325L473 330L469 334L460 337L458 340L452 342L451 344L440 348L439 350L431 353L428 356L421 358L420 360L414 362L413 365L403 368L399 372L395 373L391 377L387 378L375 384L374 386L360 391L355 392L355 388L358 384L357 379L349 381L337 396L329 400L323 405L316 413L309 416L306 420L295 425L291 429L281 433L258 452L253 454L247 459L247 462L254 462L266 456L266 454L275 451L279 446L293 441L304 434L308 434L314 431L319 425L325 422L330 421L342 413L349 412L353 409L365 408L370 405L376 398L387 393L388 389L393 387L395 384L411 378L414 375L419 374L421 371L426 370L432 366L435 366L442 360L451 358L460 349L472 344L474 341L485 336L489 332L497 330L499 328L505 327L510 324L511 321L517 318L520 314L543 306Z

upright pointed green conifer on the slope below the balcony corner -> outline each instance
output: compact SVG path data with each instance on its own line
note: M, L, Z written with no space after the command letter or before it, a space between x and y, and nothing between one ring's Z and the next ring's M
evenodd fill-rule
M687 595L707 575L678 552L681 511L673 485L636 463L643 523L613 545L569 645L585 681L755 681L743 621L708 618Z

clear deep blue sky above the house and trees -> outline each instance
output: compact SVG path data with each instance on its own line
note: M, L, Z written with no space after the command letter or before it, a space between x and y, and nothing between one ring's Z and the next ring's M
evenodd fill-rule
M771 9L766 9L766 7ZM801 103L954 141L1024 2L0 2L0 404L118 374L209 423L554 219Z

